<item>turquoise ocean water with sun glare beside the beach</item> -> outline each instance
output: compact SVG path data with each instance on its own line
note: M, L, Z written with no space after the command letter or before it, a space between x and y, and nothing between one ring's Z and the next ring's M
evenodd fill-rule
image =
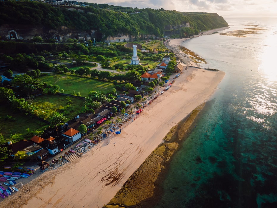
M226 76L173 156L157 207L277 207L277 19L226 21L229 35L182 44Z

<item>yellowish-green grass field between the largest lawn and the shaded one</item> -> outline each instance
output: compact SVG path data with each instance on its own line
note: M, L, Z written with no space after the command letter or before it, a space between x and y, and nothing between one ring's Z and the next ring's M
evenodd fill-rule
M67 96L62 95L41 95L34 98L32 104L43 111L47 111L49 115L55 112L63 113L66 117L65 122L76 117L80 109L84 105L84 100L70 97L71 105L68 105ZM60 110L59 110L60 109Z

